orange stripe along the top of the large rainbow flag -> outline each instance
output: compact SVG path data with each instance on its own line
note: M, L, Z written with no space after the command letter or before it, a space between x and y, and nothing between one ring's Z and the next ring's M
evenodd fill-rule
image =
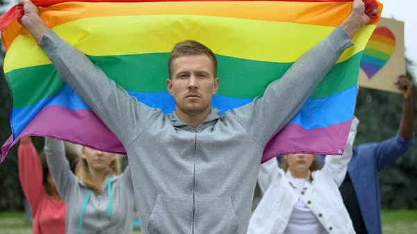
M40 8L40 17L51 28L76 19L123 15L207 15L334 27L340 25L350 15L351 4L351 2L288 1L70 2ZM277 9L282 8L285 8L284 12L288 14L277 14ZM338 17L329 20L330 15ZM17 21L12 22L2 33L6 51L17 35L28 34L27 29L22 28Z

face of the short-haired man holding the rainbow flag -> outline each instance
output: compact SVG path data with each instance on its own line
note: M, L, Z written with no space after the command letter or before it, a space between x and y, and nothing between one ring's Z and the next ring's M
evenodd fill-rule
M172 78L168 92L175 104L188 115L198 115L211 108L211 98L219 87L213 62L206 55L181 56L172 61Z

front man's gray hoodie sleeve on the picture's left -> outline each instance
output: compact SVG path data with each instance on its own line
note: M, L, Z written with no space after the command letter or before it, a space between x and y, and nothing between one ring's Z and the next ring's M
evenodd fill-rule
M39 46L54 64L59 76L95 112L127 147L140 135L145 124L156 114L131 97L126 90L104 74L85 54L49 30Z

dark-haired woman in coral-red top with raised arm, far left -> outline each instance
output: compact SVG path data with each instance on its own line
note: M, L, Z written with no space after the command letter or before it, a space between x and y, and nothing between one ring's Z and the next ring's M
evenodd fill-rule
M65 156L75 172L79 158L76 148L66 147ZM54 178L49 172L43 151L38 153L31 137L19 140L19 180L33 217L33 234L64 234L66 207Z

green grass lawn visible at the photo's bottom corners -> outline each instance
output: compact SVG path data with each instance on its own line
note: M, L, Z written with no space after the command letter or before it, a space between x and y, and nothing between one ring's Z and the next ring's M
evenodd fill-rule
M417 230L417 210L383 210L382 229L387 234L411 234ZM23 212L0 212L0 234L31 234ZM135 228L134 234L140 234Z

